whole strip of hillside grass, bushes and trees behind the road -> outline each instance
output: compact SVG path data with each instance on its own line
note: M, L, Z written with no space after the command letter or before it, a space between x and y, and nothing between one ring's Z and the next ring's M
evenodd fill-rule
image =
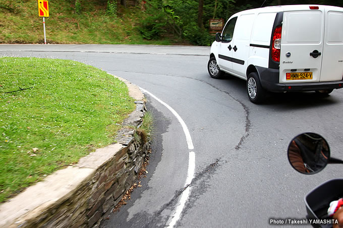
M342 0L50 0L48 43L210 45L209 19L261 6ZM0 0L0 43L43 43L37 0Z

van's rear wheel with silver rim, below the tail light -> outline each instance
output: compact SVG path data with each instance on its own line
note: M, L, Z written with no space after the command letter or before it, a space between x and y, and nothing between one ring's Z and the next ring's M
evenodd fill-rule
M249 100L252 103L261 103L266 95L266 91L262 88L260 79L256 72L251 72L247 79L247 93Z

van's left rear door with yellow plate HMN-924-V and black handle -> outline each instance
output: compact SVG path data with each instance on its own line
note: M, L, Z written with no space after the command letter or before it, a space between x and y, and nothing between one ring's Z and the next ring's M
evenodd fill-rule
M297 11L284 11L281 33L280 83L320 81L324 15L323 7L310 10L308 6L302 6Z

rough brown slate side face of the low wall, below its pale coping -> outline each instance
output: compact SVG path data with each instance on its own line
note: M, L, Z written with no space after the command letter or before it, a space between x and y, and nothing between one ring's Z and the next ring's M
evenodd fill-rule
M122 146L113 153L114 156L52 206L10 227L97 227L134 184L149 150L149 142L143 141L135 130L142 124L145 102L135 103L136 110L124 121L117 134L117 143ZM79 166L83 167L87 168L87 164Z

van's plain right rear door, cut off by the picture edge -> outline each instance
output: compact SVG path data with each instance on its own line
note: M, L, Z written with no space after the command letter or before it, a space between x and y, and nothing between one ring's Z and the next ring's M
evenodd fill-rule
M325 13L320 81L339 81L343 76L343 12L337 11L336 8L327 8Z

